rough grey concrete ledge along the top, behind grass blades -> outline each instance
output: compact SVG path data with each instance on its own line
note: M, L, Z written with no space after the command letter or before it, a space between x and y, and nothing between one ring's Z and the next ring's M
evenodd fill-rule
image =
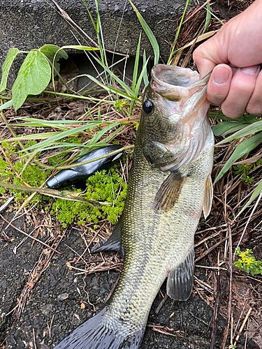
M170 50L170 45L166 41L173 42L177 15L182 12L184 6L181 5L185 2L185 0L133 1L154 32L164 60L167 59ZM81 0L57 0L57 3L80 28L96 40L94 27ZM86 3L96 18L94 0L86 0ZM129 1L101 0L99 8L105 47L108 50L115 49L117 52L136 54L138 37L143 29ZM0 0L0 66L10 47L28 51L46 43L59 46L77 45L78 41L73 33L79 38L80 43L89 44L85 42L84 36L81 38L71 24L61 17L57 7L50 0ZM144 48L147 54L152 54L150 42L143 33L141 53ZM22 55L15 59L8 80L9 87L21 61Z

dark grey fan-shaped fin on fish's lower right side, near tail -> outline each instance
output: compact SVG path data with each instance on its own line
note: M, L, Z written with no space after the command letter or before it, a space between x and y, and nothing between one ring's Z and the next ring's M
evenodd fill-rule
M180 265L169 272L166 292L177 301L186 301L191 295L194 281L194 246Z

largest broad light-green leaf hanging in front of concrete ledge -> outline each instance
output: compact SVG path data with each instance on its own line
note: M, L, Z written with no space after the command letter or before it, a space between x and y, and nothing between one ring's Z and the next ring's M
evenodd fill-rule
M13 84L13 106L15 110L21 107L29 94L41 94L48 86L51 77L51 68L43 54L32 50L18 72Z

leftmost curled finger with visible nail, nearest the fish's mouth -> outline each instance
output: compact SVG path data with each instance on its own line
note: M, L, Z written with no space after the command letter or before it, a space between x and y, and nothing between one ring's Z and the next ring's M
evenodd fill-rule
M215 66L208 82L208 101L221 105L226 99L231 84L232 69L227 64Z

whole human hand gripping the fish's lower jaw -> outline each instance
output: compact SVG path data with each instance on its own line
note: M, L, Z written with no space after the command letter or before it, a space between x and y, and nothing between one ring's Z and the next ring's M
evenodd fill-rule
M224 24L193 54L201 77L212 70L208 101L227 117L262 113L262 0Z

